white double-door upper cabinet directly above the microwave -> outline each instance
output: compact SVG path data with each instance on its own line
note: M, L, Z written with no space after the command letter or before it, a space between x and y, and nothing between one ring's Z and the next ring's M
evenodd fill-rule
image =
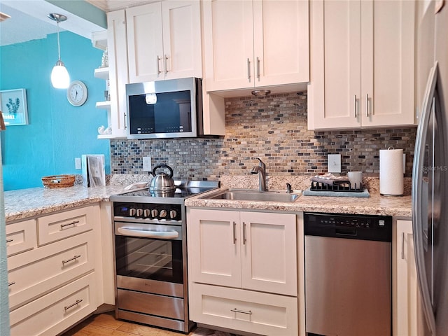
M202 78L200 1L162 1L128 8L130 83Z

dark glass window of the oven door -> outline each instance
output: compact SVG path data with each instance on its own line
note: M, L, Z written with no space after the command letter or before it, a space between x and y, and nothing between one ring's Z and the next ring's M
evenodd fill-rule
M117 275L183 283L182 241L116 236Z

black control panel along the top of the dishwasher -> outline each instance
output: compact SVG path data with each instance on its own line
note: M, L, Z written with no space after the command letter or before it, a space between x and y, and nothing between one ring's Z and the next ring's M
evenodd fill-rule
M322 237L391 241L392 217L304 213L304 234Z

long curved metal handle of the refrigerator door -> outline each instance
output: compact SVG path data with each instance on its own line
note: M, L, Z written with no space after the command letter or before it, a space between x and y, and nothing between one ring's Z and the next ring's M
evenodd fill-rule
M437 62L430 71L428 83L426 85L425 98L423 101L423 109L421 111L421 119L416 134L415 155L414 155L414 175L412 176L412 229L414 234L415 246L415 262L417 277L421 293L421 301L423 311L426 316L428 328L431 335L435 336L435 316L433 312L433 304L431 300L428 279L426 277L426 265L424 259L423 246L423 156L425 151L425 140L427 135L427 127L430 113L434 106L433 97L435 94L435 86L437 84Z

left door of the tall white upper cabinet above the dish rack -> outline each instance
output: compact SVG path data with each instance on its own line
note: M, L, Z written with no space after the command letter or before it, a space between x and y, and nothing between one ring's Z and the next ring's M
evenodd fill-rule
M360 1L311 1L308 128L360 126Z

